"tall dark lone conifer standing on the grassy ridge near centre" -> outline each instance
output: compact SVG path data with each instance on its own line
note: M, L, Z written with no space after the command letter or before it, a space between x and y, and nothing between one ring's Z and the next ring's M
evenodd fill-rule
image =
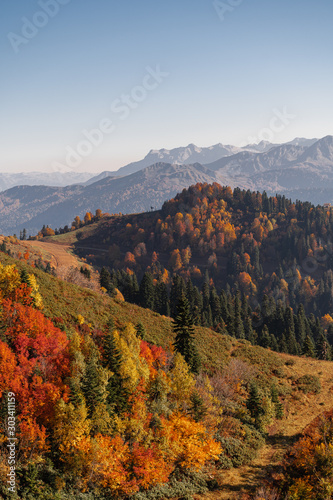
M184 357L192 372L198 373L200 368L200 358L194 345L193 320L190 315L188 300L184 294L181 295L178 302L177 314L173 323L173 331L176 334L176 338L173 343L176 351Z

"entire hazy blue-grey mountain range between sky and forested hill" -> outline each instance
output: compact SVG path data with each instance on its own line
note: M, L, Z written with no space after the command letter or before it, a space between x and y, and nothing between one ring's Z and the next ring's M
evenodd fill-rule
M45 185L56 174L62 184ZM278 192L314 204L333 202L333 137L297 138L282 145L262 142L244 148L190 144L151 150L143 160L117 172L52 175L43 179L44 185L18 186L0 193L0 233L18 233L25 227L35 234L43 224L64 226L76 215L83 217L97 208L109 213L160 208L165 200L197 182L266 190L270 195ZM64 185L66 175L69 185ZM27 178L28 174L23 180Z

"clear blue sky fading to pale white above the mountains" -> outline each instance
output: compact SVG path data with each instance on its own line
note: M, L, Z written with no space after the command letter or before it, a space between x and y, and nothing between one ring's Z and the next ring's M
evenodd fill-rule
M0 172L333 134L332 0L3 0Z

